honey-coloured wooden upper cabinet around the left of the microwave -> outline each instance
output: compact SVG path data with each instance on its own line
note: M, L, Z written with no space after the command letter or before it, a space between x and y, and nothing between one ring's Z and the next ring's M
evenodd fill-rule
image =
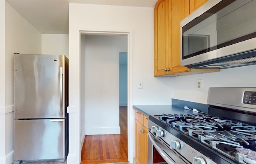
M180 21L207 0L158 0L154 9L154 76L219 71L180 66Z

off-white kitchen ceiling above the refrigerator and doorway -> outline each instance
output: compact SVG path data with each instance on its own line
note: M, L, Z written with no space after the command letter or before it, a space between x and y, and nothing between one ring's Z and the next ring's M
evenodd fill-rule
M68 4L154 7L157 0L6 0L41 34L68 34Z

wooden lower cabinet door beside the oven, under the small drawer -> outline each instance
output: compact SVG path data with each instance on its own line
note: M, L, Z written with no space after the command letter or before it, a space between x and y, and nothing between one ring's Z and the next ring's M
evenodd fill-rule
M138 121L135 122L135 159L137 164L146 164L146 137L147 131Z

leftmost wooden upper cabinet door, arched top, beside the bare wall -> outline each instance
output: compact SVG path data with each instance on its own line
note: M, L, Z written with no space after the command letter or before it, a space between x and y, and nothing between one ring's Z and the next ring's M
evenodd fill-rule
M155 6L154 16L154 76L164 75L170 69L169 49L170 43L170 21L169 1L159 0Z

